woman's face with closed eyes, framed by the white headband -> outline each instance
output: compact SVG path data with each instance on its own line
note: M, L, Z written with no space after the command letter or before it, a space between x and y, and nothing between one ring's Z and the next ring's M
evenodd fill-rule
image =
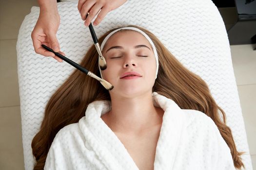
M102 54L107 68L102 70L103 79L114 88L109 91L126 98L152 92L156 78L156 59L148 40L135 31L117 32L106 42ZM123 79L128 71L136 71L141 77Z

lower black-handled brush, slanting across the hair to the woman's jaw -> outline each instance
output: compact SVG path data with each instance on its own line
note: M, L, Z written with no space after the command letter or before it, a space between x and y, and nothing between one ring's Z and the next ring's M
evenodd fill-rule
M62 60L66 61L67 63L69 63L70 65L74 66L75 68L78 68L80 71L86 73L88 76L91 76L92 78L95 78L96 80L98 80L101 85L103 85L107 90L112 90L114 88L113 85L111 85L110 83L108 83L106 80L99 78L97 75L95 75L94 73L92 73L91 71L88 71L87 69L83 68L82 66L80 66L79 64L75 63L74 61L68 59L67 57L61 55L59 52L55 52L53 51L51 48L45 46L42 44L42 47L44 49L46 49L47 51L51 51L53 52L55 55L57 55L59 58L61 58Z

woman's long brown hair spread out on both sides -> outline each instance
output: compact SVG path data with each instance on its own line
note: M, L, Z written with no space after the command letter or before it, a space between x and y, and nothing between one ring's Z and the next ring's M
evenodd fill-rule
M213 119L230 148L234 166L237 169L244 167L240 157L244 152L237 152L232 131L226 125L225 112L213 99L208 85L197 74L185 68L154 34L135 25L129 25L129 27L136 27L148 34L158 51L158 78L152 91L172 99L181 109L199 110ZM99 44L113 30L102 35L98 40ZM100 77L98 53L94 45L90 47L80 65ZM111 100L109 92L94 78L78 69L74 70L47 103L40 130L32 140L32 151L37 161L34 170L43 170L47 153L59 130L66 125L78 122L85 116L88 104L100 100ZM223 122L218 110L223 116Z

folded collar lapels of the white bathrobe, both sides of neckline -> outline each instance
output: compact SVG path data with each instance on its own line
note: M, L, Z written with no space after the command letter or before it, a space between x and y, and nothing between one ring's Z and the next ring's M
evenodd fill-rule
M157 92L152 93L154 105L164 110L158 138L154 170L171 170L177 154L185 116L182 109ZM110 101L95 101L88 105L79 127L85 137L85 146L93 151L108 170L138 170L134 160L115 135L100 118L111 109ZM94 164L94 162L91 162ZM99 164L95 164L99 166ZM96 167L102 169L102 167Z

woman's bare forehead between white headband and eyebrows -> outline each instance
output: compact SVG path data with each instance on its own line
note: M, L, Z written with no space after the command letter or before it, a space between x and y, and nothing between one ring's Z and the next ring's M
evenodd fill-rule
M117 32L109 37L106 44L104 45L104 49L111 46L136 46L139 44L148 45L151 47L147 38L140 34L137 31L125 30L121 32Z

